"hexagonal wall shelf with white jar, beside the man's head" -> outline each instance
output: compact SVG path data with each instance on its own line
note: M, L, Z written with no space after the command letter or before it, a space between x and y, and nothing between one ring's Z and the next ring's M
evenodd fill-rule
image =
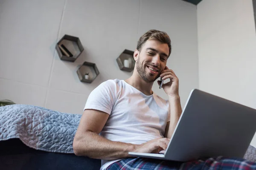
M134 51L124 50L116 59L116 62L122 71L131 72L134 70L135 60L133 57Z

